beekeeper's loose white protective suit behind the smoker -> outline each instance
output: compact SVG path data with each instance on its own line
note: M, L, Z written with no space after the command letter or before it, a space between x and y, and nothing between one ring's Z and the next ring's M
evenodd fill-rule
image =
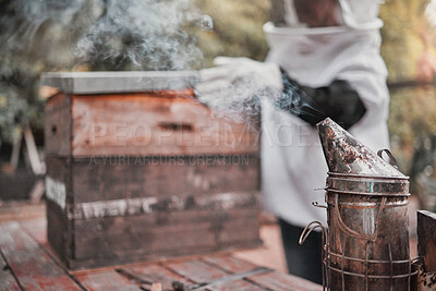
M358 5L362 2L367 1L355 1ZM378 3L371 13L378 13ZM387 69L379 54L382 22L376 14L375 19L361 29L352 24L319 28L264 25L270 47L267 61L279 64L291 78L310 87L344 80L358 92L366 113L349 131L373 150L389 147ZM265 207L298 227L313 220L325 223L326 211L312 206L314 201L324 204L324 191L315 189L325 186L328 171L316 130L268 99L263 100L262 112Z

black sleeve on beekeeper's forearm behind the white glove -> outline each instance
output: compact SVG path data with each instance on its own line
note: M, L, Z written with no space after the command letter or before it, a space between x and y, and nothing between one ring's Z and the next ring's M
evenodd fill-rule
M282 71L283 90L276 106L315 126L329 117L346 130L366 112L359 94L347 81L335 80L325 87L302 86Z

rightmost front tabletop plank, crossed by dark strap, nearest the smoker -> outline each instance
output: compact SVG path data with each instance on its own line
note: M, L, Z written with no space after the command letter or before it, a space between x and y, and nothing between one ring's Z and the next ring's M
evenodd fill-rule
M246 271L256 267L256 265L252 263L233 256L207 256L203 259L208 265L231 272ZM246 280L264 289L270 290L319 291L323 288L322 286L304 280L300 277L279 271L252 276Z

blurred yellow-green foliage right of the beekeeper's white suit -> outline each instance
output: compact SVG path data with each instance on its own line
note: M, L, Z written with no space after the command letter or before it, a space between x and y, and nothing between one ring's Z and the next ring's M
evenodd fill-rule
M382 56L390 83L416 80L419 61L425 52L424 38L429 39L428 52L435 58L436 27L429 25L425 15L428 3L429 0L388 0L380 7L380 17L385 22ZM416 148L436 135L435 86L392 89L388 125L400 169L414 175Z

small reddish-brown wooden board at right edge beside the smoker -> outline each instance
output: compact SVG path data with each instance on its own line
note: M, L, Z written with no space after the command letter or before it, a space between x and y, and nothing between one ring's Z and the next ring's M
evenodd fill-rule
M417 211L417 254L425 271L436 271L436 214Z

